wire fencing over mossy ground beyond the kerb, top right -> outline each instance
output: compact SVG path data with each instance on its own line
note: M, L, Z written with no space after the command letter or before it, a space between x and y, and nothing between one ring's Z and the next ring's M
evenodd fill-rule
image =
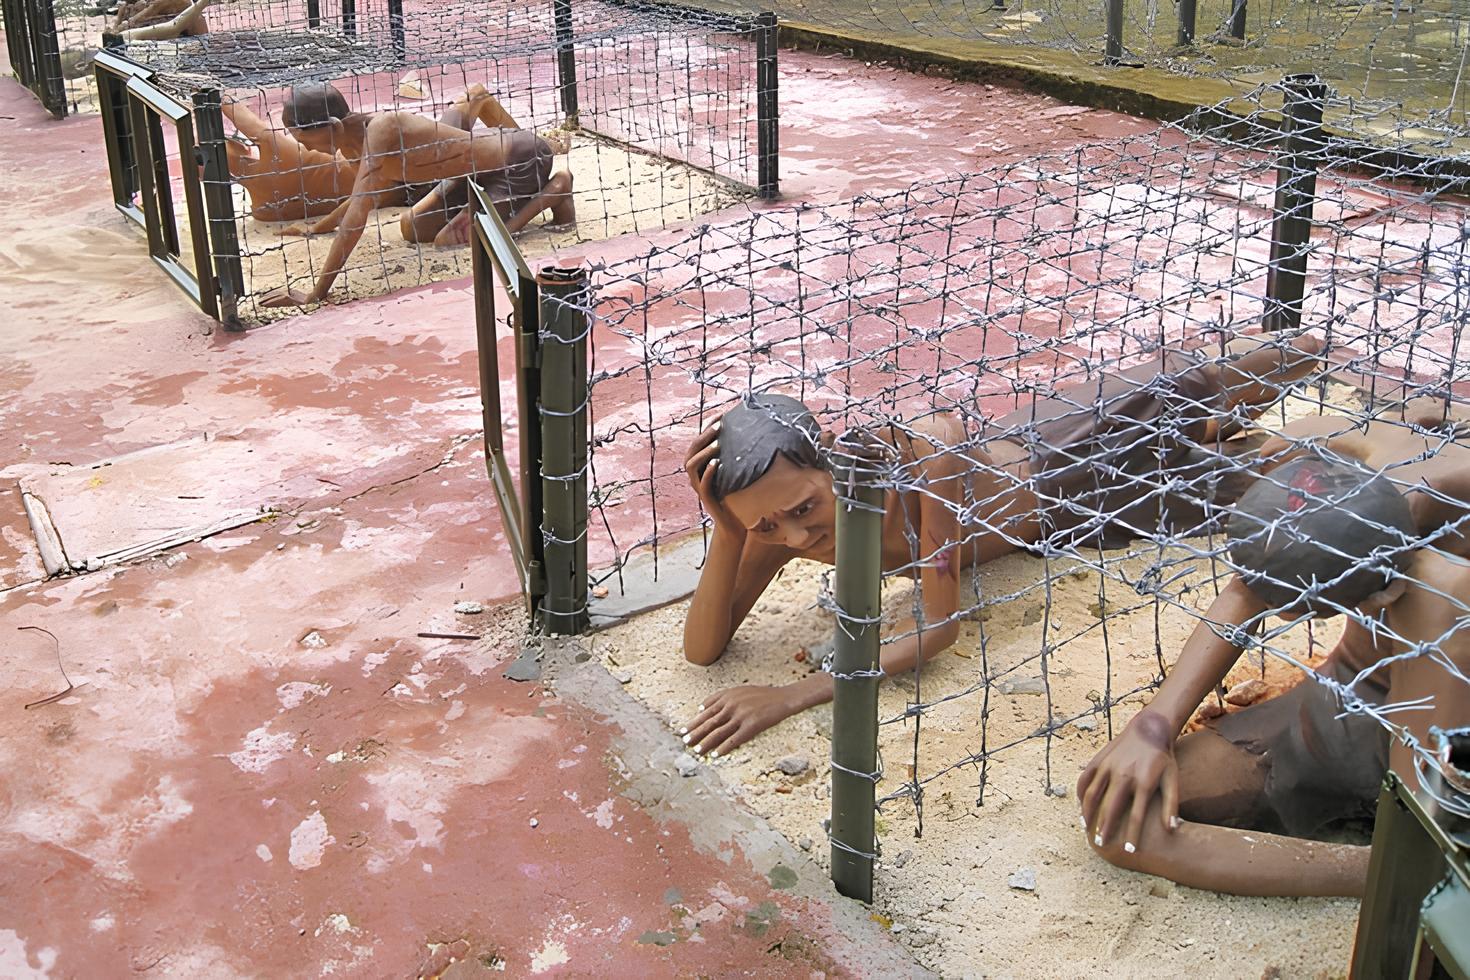
M1123 73L1141 66L1145 75L1123 84L1200 104L1248 93L1282 73L1322 72L1341 93L1327 119L1342 132L1429 151L1449 144L1466 148L1460 141L1467 135L1470 21L1449 0L798 0L775 4L775 10L782 22L839 34L838 43L919 43L944 56L1001 60L1094 82L1108 78L1095 66L1120 65ZM1185 28L1189 43L1180 40ZM1107 57L1110 50L1116 57Z

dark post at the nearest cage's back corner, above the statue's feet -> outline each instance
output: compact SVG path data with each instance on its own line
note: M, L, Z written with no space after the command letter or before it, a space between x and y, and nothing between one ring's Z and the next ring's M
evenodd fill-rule
M1322 106L1327 87L1316 75L1288 75L1282 106L1283 145L1276 165L1276 206L1272 220L1272 260L1266 273L1267 331L1301 326L1307 291L1307 248L1322 154Z

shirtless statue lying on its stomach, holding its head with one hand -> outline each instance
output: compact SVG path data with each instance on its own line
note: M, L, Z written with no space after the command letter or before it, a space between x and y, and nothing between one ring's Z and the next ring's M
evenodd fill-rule
M908 570L923 591L923 629L882 652L886 674L913 670L954 644L960 632L960 570L1036 545L1126 541L1164 522L1177 533L1210 523L1192 494L1158 494L1160 475L1204 486L1213 444L1242 417L1274 403L1283 385L1317 363L1320 344L1245 339L1225 363L1169 351L1160 360L988 425L975 445L958 419L933 416L883 442L904 479L926 491L888 491L883 569ZM719 660L741 621L794 558L832 564L836 497L823 466L828 442L806 406L759 395L732 408L689 448L685 472L713 522L710 551L689 602L684 654ZM963 451L947 447L967 447ZM960 526L957 514L972 520ZM917 541L911 552L910 533ZM813 673L786 686L748 685L707 699L682 729L711 757L781 720L832 698L832 679Z

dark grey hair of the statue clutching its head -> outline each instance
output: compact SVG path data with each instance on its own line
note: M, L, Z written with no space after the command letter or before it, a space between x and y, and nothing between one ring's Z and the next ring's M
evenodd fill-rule
M778 455L797 466L822 466L822 426L811 410L786 395L745 395L720 419L720 466L714 497L742 491L770 469Z

